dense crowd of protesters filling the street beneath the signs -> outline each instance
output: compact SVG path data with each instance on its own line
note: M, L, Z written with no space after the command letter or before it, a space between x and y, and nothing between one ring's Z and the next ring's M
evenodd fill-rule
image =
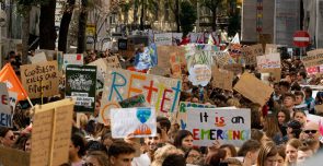
M86 63L109 52L90 51ZM119 57L120 58L120 57ZM126 58L125 58L126 59ZM12 58L12 61L15 59ZM131 63L131 59L120 59ZM124 67L128 67L125 64ZM195 146L193 134L181 130L178 123L158 117L155 137L113 139L109 126L97 122L100 99L94 114L84 114L77 126L73 118L72 137L69 146L71 166L295 166L301 165L322 151L322 137L318 123L308 122L307 115L322 116L315 105L323 103L323 93L312 97L313 90L307 85L320 85L321 78L307 75L298 58L281 60L281 79L269 79L275 92L265 106L252 103L234 91L222 91L208 84L193 86L187 69L182 68L181 102L209 104L217 107L234 106L251 109L251 140L241 147L215 141L212 146ZM245 67L244 72L261 79L255 67ZM170 76L170 75L165 75ZM239 80L234 76L233 84ZM102 95L102 94L101 94ZM99 96L97 98L101 98ZM57 100L48 98L48 102ZM32 114L15 109L14 128L0 128L0 143L22 151L31 151ZM316 165L321 165L318 163Z

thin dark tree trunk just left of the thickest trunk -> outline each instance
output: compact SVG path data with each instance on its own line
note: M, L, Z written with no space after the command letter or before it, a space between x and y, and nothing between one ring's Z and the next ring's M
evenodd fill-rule
M28 40L30 40L30 17L31 17L31 7L25 7L25 14L23 15L22 27L22 64L26 64L28 61Z

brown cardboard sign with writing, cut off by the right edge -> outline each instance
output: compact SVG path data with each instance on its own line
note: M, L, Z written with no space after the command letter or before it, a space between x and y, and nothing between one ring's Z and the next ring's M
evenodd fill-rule
M323 49L315 49L307 52L308 56L302 57L302 62L307 69L308 74L323 73Z

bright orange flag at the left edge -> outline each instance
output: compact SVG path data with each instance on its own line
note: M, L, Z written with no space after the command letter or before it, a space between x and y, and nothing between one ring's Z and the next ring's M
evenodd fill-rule
M0 82L7 84L8 91L18 93L18 100L24 100L27 98L28 95L10 63L7 63L0 71Z

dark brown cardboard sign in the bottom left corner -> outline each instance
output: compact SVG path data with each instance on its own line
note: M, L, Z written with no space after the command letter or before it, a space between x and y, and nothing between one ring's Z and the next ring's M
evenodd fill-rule
M12 147L0 146L1 166L30 166L31 154Z

